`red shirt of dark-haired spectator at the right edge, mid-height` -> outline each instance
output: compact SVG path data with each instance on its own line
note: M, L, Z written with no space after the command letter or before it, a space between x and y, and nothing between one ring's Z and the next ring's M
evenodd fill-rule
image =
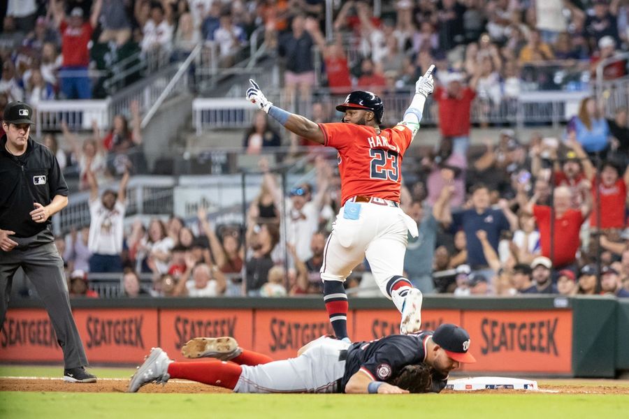
M592 199L594 205L590 216L590 225L593 227L597 225L597 210L600 206L600 228L625 228L627 185L623 179L617 179L612 186L605 186L601 182L598 191L597 200L596 186L593 184Z

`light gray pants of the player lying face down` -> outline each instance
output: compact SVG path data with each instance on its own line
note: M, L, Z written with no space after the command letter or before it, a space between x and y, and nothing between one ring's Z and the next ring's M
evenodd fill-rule
M349 344L328 337L319 338L297 358L254 367L243 365L234 392L340 392L345 358L340 352Z

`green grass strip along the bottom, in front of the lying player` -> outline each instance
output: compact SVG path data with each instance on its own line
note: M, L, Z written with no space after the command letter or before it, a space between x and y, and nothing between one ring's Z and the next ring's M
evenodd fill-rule
M0 392L1 418L623 418L614 395L175 395Z

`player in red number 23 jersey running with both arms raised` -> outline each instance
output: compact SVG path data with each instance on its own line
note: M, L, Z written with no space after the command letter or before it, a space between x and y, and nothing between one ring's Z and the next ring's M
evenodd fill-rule
M381 129L382 100L369 91L353 91L336 107L342 122L315 124L277 108L250 80L247 99L289 131L338 150L342 208L324 250L321 280L335 335L347 335L347 294L343 282L367 258L375 281L402 313L400 332L421 328L421 292L402 276L407 230L417 237L417 223L400 210L402 158L419 130L424 104L433 92L434 66L415 84L415 94L401 122Z

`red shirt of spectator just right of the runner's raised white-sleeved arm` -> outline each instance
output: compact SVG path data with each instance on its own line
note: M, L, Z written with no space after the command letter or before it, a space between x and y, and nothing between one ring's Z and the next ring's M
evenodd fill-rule
M437 87L433 98L439 102L439 128L444 137L470 135L470 109L476 92L469 87L461 91L461 97L451 97L443 87Z

